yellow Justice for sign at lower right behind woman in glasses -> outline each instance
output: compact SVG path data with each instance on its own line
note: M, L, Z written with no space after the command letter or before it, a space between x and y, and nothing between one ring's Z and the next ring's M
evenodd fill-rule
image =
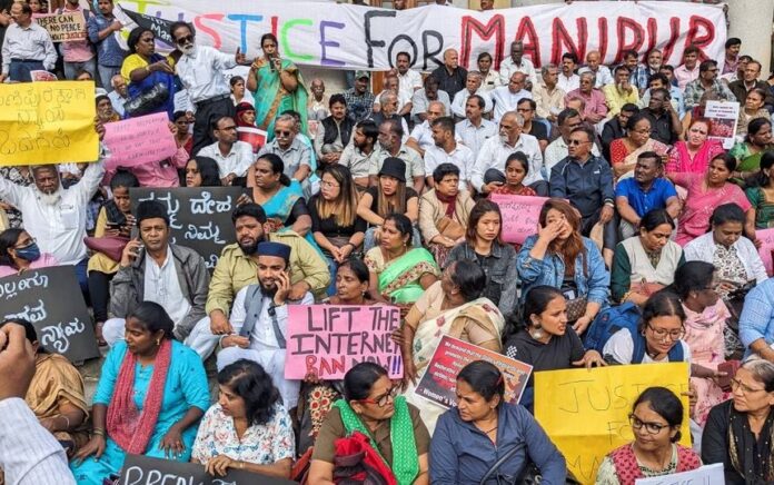
M594 484L607 453L634 439L628 415L647 387L661 386L683 402L681 444L691 446L688 364L642 364L535 373L535 417L583 484Z

